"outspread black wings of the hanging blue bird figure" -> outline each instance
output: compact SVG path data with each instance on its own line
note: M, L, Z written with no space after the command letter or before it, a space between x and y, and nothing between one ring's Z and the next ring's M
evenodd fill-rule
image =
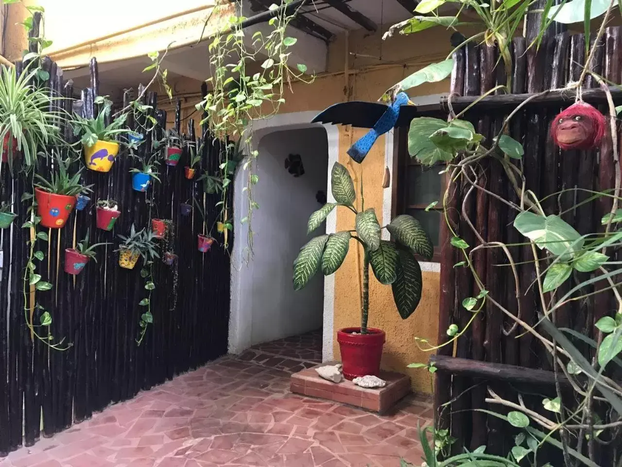
M313 118L312 123L352 125L356 128L373 128L383 116L387 106L378 102L351 101L331 105ZM402 105L397 126L408 126L417 114L414 105Z

